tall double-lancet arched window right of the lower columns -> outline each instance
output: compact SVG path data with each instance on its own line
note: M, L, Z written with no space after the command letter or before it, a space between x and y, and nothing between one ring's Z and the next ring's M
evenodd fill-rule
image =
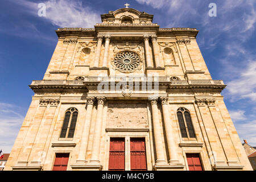
M196 138L189 111L184 107L177 110L180 132L182 138Z

